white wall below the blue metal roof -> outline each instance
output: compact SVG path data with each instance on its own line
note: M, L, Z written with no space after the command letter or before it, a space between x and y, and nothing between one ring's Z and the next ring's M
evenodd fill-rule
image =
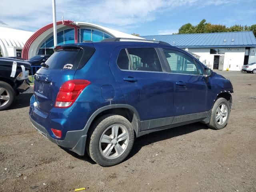
M188 51L200 56L200 62L213 69L214 55L224 55L223 70L227 68L232 71L241 70L244 64L244 47L222 48L225 54L210 54L210 48L188 48ZM205 62L204 62L205 61Z

